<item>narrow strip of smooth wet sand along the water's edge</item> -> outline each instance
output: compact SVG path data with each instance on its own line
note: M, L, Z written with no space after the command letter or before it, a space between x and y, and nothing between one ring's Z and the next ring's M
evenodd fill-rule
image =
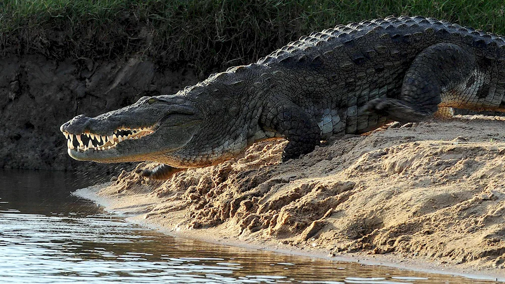
M107 183L102 184L103 186L107 185ZM313 257L313 258L320 258L320 259L326 259L326 260L332 260L332 261L337 261L337 262L357 262L362 265L374 265L374 266L384 266L384 267L390 267L390 268L395 268L395 269L406 269L406 270L411 270L411 271L416 271L416 272L426 272L426 273L432 273L432 274L444 274L444 275L457 275L457 276L463 276L466 278L470 279L476 279L476 280L490 280L490 281L497 281L497 282L505 282L505 274L495 274L492 272L465 272L464 269L458 269L455 267L451 266L444 266L440 267L439 265L434 265L431 262L423 261L423 260L414 260L414 259L406 259L401 256L395 256L395 255L389 255L389 256L384 256L384 255L367 255L363 253L357 253L357 254L346 254L346 255L340 255L340 256L329 256L327 253L321 251L321 250L299 250L293 247L289 247L286 245L282 245L281 248L279 248L279 244L276 246L275 244L264 244L261 242L250 242L250 241L241 241L237 238L229 238L229 237L210 237L206 236L208 231L205 232L195 232L195 230L184 230L184 231L179 231L176 228L165 228L161 224L157 224L156 222L150 222L146 221L144 216L145 213L139 213L135 214L135 207L130 207L130 208L123 208L122 202L117 202L113 198L107 198L103 196L99 196L97 193L98 191L103 188L100 187L102 185L96 185L92 187L87 187L87 188L82 188L74 193L72 193L75 196L78 196L80 198L84 198L87 200L92 201L98 206L101 206L104 208L104 210L115 213L120 215L121 217L124 217L126 221L130 223L134 223L137 225L144 226L145 228L149 228L151 230L155 230L157 232L163 233L165 235L171 236L171 237L176 237L176 238L183 238L183 239L190 239L190 240L197 240L197 241L202 241L210 244L216 244L216 245L223 245L223 246L233 246L233 247L240 247L240 248L246 248L246 249L254 249L254 250L264 250L264 251L269 251L269 252L274 252L274 253L282 253L282 254L289 254L289 255L296 255L296 256L304 256L304 257ZM139 207L142 208L142 207ZM203 229L203 230L208 230L208 229ZM211 229L211 233L217 233L215 232L216 230ZM369 259L373 258L373 259Z

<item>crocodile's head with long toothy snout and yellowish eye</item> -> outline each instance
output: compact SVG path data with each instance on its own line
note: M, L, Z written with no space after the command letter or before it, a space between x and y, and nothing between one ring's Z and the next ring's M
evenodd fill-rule
M160 161L183 166L170 154L187 146L201 128L203 113L181 94L142 97L94 118L77 116L60 130L68 154L97 162Z

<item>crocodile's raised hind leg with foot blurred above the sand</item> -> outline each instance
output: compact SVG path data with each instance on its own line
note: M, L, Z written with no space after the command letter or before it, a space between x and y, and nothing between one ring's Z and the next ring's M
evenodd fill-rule
M475 56L460 46L434 44L417 55L398 98L374 99L365 109L399 122L421 121L437 111L441 93L464 83L475 68Z

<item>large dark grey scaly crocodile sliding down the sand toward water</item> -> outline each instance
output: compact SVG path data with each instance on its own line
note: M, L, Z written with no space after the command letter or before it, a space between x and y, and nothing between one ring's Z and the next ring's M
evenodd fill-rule
M68 154L97 162L156 161L142 176L288 141L282 161L341 134L450 117L452 107L505 110L505 42L433 18L394 17L303 36L257 63L212 74L172 95L144 96L61 126Z

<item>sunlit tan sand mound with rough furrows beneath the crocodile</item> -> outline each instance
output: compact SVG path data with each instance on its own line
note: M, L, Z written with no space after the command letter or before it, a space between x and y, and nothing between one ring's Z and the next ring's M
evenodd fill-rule
M505 279L503 130L484 116L394 123L285 163L285 141L261 142L164 182L123 172L97 195L189 237Z

